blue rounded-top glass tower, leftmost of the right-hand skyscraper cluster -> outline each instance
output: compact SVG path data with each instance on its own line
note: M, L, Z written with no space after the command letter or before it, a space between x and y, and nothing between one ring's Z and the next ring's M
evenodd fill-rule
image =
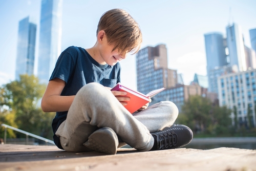
M221 33L213 32L204 35L205 38L205 50L207 58L207 76L208 76L208 91L218 93L217 80L215 74L211 74L212 70L219 67L226 66L227 55L225 39Z

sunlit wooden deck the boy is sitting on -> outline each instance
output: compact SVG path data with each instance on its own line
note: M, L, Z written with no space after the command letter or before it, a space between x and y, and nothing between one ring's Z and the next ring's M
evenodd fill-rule
M0 144L0 170L256 170L256 150L178 148L116 155L70 153L56 146Z

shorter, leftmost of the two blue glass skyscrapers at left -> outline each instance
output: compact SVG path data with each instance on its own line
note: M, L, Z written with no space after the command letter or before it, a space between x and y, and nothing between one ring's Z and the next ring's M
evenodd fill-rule
M20 20L18 25L18 44L15 79L20 74L34 74L36 24L30 22L29 16Z

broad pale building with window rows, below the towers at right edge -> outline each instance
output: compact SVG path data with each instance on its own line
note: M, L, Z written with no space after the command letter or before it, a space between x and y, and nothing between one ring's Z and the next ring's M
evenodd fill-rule
M256 126L256 69L230 73L218 78L219 104L237 108L238 124ZM234 111L231 118L234 122Z

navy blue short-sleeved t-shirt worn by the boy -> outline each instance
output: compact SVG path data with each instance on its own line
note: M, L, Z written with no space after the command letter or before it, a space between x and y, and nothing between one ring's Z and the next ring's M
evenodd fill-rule
M120 63L115 66L100 65L85 49L72 46L60 54L50 80L59 78L65 81L66 86L60 95L72 96L90 82L98 82L105 87L114 87L120 82L120 71ZM53 140L61 149L63 148L55 133L59 125L66 120L67 114L68 111L57 112L52 122Z

